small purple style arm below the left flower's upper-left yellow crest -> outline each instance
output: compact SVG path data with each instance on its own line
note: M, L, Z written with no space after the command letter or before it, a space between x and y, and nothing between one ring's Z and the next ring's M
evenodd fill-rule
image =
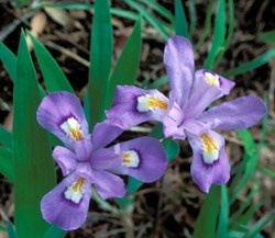
M92 152L91 137L86 136L74 144L74 149L79 161L88 161Z

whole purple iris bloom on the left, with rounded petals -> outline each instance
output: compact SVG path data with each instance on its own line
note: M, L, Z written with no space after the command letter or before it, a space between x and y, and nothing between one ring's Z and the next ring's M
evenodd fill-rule
M68 146L53 150L65 178L41 202L43 218L64 230L77 229L85 222L91 185L102 200L123 197L124 182L114 173L154 182L166 169L165 151L155 138L141 137L106 148L122 134L121 123L107 120L89 135L81 104L72 93L45 97L37 121Z

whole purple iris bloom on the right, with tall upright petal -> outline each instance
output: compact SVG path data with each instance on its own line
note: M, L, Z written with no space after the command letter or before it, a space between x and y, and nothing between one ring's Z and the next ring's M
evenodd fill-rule
M207 110L229 94L234 82L209 70L194 71L193 46L182 36L168 39L164 64L169 99L157 90L120 86L107 117L123 118L123 127L160 121L165 137L187 138L194 152L191 177L201 191L209 192L211 184L224 184L230 178L224 139L213 129L248 128L264 116L266 107L261 99L248 95Z

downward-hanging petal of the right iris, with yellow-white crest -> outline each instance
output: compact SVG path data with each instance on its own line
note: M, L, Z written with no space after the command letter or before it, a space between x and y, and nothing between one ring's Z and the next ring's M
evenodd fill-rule
M224 150L224 139L215 132L200 138L191 138L191 177L202 192L208 193L211 184L224 184L230 178L229 159Z

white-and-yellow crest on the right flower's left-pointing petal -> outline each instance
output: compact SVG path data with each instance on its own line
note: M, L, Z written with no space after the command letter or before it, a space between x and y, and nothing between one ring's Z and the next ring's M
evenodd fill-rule
M158 99L155 95L141 95L138 98L138 111L147 112L151 110L167 110L167 102Z

